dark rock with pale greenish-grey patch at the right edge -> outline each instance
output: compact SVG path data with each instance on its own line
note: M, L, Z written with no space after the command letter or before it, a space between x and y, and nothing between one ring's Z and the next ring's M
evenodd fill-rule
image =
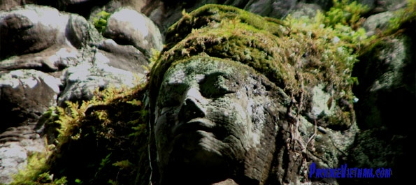
M356 103L357 121L362 128L388 126L391 131L408 132L399 128L416 112L414 107L403 106L416 103L413 39L400 36L380 41L354 66L359 77L354 91L360 100Z

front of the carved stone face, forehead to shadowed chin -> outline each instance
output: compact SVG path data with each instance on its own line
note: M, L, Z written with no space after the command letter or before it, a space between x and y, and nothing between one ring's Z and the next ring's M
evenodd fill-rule
M252 94L265 90L238 65L195 59L166 71L154 124L162 179L226 177L260 144L264 121L252 121L264 119L264 110Z

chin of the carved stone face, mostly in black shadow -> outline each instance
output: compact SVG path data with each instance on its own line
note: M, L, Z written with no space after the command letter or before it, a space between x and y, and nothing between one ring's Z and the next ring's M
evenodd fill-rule
M181 133L173 140L173 146L162 174L166 182L212 184L229 177L228 156L220 152L224 144L213 133L200 130Z

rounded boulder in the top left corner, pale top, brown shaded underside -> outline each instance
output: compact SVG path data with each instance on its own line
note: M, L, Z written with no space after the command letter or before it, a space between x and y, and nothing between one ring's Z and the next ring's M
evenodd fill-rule
M41 6L1 12L0 59L40 52L59 42L59 29L66 25L65 18L55 8Z

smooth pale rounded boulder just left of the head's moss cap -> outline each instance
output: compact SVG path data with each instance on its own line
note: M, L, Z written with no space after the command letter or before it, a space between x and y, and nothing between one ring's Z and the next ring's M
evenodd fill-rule
M121 45L133 45L147 57L152 49L162 50L162 35L156 25L136 10L122 8L110 15L103 36Z

